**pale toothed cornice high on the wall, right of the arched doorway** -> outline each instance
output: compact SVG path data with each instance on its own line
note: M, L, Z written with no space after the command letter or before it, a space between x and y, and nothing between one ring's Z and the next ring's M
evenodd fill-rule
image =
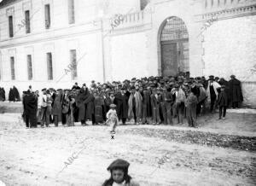
M218 17L218 20L225 20L248 15L256 15L256 3L232 9L222 9L218 11L207 12L201 15L195 15L195 22L209 20L212 17Z

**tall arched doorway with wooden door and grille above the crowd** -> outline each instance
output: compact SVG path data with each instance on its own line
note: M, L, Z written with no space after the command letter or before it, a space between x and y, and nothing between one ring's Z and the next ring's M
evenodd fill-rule
M159 33L161 75L175 76L189 72L189 33L183 20L167 18Z

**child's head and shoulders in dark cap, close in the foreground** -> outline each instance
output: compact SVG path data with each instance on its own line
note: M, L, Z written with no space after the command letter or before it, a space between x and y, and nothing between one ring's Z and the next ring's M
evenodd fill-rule
M109 166L110 178L107 179L102 186L114 186L114 185L129 185L139 186L138 183L134 182L128 174L128 167L130 163L126 160L117 159L114 160Z

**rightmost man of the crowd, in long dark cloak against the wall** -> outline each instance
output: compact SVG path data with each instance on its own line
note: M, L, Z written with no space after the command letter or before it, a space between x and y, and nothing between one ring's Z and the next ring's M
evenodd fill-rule
M241 82L236 78L235 75L231 75L230 78L230 104L232 108L239 108L239 103L243 101Z

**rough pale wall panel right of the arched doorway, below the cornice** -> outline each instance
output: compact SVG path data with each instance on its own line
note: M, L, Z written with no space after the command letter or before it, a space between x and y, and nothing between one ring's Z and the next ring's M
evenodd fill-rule
M204 75L241 80L245 104L256 105L256 16L216 20L203 33Z

